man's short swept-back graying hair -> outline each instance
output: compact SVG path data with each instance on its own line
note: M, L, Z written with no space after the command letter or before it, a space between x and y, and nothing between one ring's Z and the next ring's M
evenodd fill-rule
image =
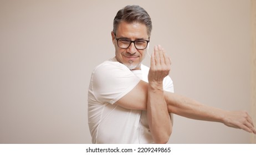
M138 22L145 24L147 27L147 35L151 35L152 22L149 14L145 11L144 8L140 6L126 6L123 9L120 9L114 18L113 22L113 32L116 33L116 29L119 26L120 22L133 23Z

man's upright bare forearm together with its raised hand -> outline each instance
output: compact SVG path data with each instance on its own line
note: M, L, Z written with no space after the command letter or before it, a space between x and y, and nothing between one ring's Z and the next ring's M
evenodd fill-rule
M163 91L163 79L169 74L170 69L170 59L161 46L155 46L148 77L147 120L156 143L167 143L172 131L172 122Z

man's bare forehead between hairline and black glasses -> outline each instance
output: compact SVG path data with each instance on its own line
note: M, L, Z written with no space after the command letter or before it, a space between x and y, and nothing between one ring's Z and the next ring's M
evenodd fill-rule
M120 22L116 30L116 35L117 37L126 37L130 39L149 38L146 25L138 22Z

